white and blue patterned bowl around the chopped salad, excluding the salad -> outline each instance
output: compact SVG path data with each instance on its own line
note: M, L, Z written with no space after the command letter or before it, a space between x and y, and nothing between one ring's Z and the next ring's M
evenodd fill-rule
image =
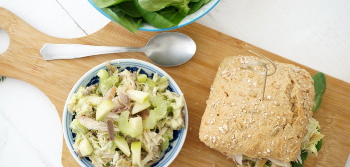
M136 59L117 59L110 61L111 65L118 66L119 70L128 69L131 71L137 71L139 68L141 68L140 73L147 74L149 77L152 77L153 74L158 73L159 76L168 76L169 80L169 89L171 91L174 91L176 93L181 93L180 88L175 83L175 81L162 69L159 67L145 62L141 60ZM69 124L72 122L74 116L70 114L68 111L68 100L71 98L73 93L77 92L80 86L88 86L90 84L94 84L98 82L97 73L101 69L107 69L106 64L100 64L90 71L88 71L86 74L83 75L79 79L77 83L75 83L74 87L70 91L67 101L64 105L63 110L63 118L62 118L62 124L63 124L63 136L64 140L66 141L66 144L68 146L68 149L74 159L82 166L82 167L94 167L91 164L91 161L84 157L81 160L79 160L78 155L74 152L73 149L73 143L74 143L74 137L75 134L72 132L72 130L69 128ZM175 130L174 131L174 139L170 142L169 149L163 153L163 157L161 160L154 164L152 167L168 167L176 158L177 154L180 152L182 145L184 143L184 140L186 138L187 134L187 126L188 126L188 114L187 114L187 106L186 103L184 104L184 110L185 110L185 126L186 128L182 128L181 130Z

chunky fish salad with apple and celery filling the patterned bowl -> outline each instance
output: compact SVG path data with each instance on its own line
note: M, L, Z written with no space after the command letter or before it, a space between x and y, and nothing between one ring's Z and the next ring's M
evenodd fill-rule
M183 94L168 89L167 76L107 68L69 100L74 151L95 167L150 167L185 127Z

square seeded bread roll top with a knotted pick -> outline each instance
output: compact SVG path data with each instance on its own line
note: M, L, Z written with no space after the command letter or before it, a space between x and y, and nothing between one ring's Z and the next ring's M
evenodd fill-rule
M295 161L312 117L314 81L304 69L276 63L277 71L267 77L261 101L263 76L242 68L251 61L265 60L233 56L222 61L206 102L199 138L228 156ZM272 71L273 66L266 64Z

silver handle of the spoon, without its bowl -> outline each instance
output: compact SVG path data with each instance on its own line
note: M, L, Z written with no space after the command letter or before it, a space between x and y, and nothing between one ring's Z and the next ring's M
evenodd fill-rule
M92 46L80 44L44 44L40 50L44 60L76 59L86 56L122 52L144 52L144 48Z

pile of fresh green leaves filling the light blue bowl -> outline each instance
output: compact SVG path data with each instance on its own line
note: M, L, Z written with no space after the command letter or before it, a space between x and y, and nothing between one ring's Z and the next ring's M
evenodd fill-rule
M136 33L141 22L156 28L177 26L210 0L92 0L115 22Z

